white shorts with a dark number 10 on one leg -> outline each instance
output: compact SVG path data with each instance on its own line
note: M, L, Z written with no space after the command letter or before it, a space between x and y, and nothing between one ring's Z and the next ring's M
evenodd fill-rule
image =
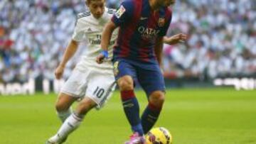
M110 99L115 87L114 74L104 74L90 68L85 72L75 69L60 92L77 98L87 96L95 101L96 109L100 109Z

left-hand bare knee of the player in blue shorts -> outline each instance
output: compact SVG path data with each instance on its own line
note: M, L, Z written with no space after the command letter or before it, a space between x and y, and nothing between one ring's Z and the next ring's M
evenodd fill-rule
M118 86L121 91L129 91L134 89L132 77L122 77L118 79Z

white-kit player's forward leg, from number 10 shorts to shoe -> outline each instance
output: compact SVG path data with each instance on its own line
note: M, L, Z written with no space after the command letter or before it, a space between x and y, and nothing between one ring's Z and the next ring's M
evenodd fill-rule
M105 82L105 83L102 83ZM60 127L57 134L50 138L51 142L60 143L80 126L86 113L92 108L101 106L107 101L114 90L114 76L112 74L90 74L89 83L87 84L86 96L77 106L77 109L66 119Z

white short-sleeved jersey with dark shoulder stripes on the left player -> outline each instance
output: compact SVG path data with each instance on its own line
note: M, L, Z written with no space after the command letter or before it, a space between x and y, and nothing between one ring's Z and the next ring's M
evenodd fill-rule
M93 17L90 11L78 14L78 21L73 33L73 40L87 43L87 51L82 55L82 59L76 66L76 69L80 70L81 72L87 70L85 67L90 67L91 69L100 70L104 73L112 73L113 66L111 60L114 43L117 40L118 30L115 30L112 34L108 48L109 57L107 62L103 62L99 65L95 60L97 55L99 55L102 51L100 46L102 31L105 24L112 18L114 11L114 9L105 8L105 13L103 13L102 17L99 19Z

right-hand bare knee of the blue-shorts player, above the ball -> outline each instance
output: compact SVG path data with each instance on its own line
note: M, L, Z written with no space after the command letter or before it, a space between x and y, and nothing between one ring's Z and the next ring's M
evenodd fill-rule
M164 104L164 100L165 100L164 92L161 92L161 91L153 92L149 97L149 101L152 104L155 104L156 106L162 106Z

